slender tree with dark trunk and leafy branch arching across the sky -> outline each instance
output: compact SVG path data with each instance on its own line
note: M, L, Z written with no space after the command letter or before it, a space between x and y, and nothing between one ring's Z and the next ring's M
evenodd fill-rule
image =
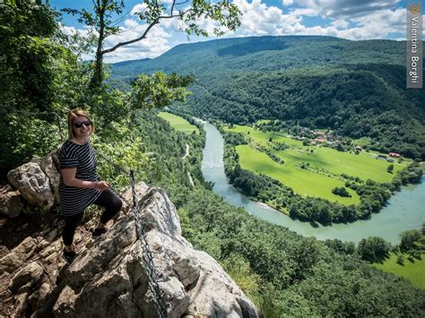
M187 0L166 3L158 0L144 0L143 10L136 13L141 21L146 23L146 29L138 37L124 42L117 43L114 47L104 48L105 39L121 32L113 19L120 16L125 8L123 0L93 0L92 13L86 9L74 10L64 9L66 13L77 14L79 21L91 28L91 32L96 35L96 57L94 62L94 72L91 77L91 88L100 88L103 80L103 56L114 52L118 47L124 47L135 42L146 39L152 27L160 21L178 19L181 22L181 29L187 35L207 37L209 33L203 29L202 21L209 19L215 21L219 26L214 27L212 33L216 36L224 34L224 29L236 30L240 25L239 8L235 4L230 4L227 0L212 2L209 0Z

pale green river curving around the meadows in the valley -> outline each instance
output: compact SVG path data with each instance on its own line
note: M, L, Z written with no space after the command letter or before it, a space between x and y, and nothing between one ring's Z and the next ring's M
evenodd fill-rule
M316 236L320 240L339 238L358 243L361 238L381 236L386 241L400 242L400 233L407 229L420 229L425 221L425 177L420 185L403 186L402 191L391 197L386 207L370 219L332 226L312 227L309 222L294 220L263 203L254 202L239 193L224 173L223 138L213 125L204 123L206 142L202 161L202 172L206 181L214 183L213 192L218 193L230 204L242 207L259 219L289 228L302 236Z

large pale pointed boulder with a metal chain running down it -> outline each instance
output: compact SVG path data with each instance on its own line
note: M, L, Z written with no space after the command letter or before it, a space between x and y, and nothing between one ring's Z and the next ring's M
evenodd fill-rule
M137 192L140 214L127 213L86 245L33 316L156 316L153 277L168 317L257 317L220 264L181 236L167 194L144 184Z

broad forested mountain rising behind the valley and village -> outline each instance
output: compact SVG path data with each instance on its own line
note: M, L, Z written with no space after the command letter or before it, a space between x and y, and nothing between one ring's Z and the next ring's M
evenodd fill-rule
M376 150L425 159L424 90L405 88L405 42L289 36L183 44L152 60L112 64L111 79L193 73L179 110L245 124L278 118L372 138Z

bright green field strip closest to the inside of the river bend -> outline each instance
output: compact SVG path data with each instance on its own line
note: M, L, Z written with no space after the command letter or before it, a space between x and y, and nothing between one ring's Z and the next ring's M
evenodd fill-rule
M270 159L264 152L254 150L247 145L236 147L239 154L240 167L270 176L282 184L290 186L296 193L303 196L316 196L331 202L340 202L344 205L358 204L360 197L348 189L351 198L343 198L332 193L335 186L344 186L343 180L324 176L294 165L279 165Z

